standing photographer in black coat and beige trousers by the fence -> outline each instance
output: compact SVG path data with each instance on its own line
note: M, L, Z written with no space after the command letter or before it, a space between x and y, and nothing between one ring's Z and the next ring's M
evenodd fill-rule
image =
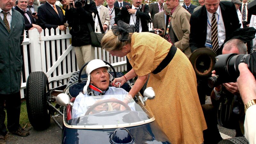
M73 6L71 6L71 4L73 4ZM72 27L70 30L70 34L72 35L71 45L75 47L76 61L79 69L82 68L86 62L95 59L88 23L92 26L92 30L94 31L93 17L96 12L96 5L91 0L89 2L88 0L69 0L65 16L68 20L69 27Z

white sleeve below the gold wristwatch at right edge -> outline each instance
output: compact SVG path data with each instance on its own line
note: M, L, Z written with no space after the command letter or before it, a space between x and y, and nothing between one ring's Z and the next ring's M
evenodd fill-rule
M246 110L244 120L244 136L249 144L256 144L256 105Z

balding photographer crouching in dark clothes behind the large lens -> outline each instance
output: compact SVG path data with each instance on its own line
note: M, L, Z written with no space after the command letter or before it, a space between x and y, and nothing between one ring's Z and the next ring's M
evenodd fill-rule
M246 49L247 47L243 41L231 39L224 44L222 54L246 54ZM213 73L212 76L215 76L215 71ZM217 124L229 129L235 129L236 137L243 136L243 128L241 129L239 124L242 125L244 122L244 109L237 83L223 83L214 87L211 93L211 100L212 104L202 105L208 127L204 131L204 143L218 143L222 140Z

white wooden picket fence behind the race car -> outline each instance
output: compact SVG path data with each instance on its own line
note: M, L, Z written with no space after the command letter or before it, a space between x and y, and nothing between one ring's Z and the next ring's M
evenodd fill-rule
M55 33L55 34L54 34ZM21 98L24 98L26 81L30 72L43 71L48 77L50 88L67 84L68 78L79 71L76 64L75 51L70 44L69 29L60 31L58 28L45 29L40 34L37 29L29 30L22 43L24 67L22 70ZM102 48L95 48L95 59L111 63L116 71L126 70L126 57L111 56ZM58 81L58 82L56 82ZM60 83L59 83L60 82Z

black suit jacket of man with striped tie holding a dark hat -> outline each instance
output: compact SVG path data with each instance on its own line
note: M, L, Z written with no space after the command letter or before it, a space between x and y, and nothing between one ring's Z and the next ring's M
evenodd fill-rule
M220 10L224 21L226 38L228 38L237 28L240 28L236 7L232 2L221 1ZM207 13L205 6L203 6L193 13L190 18L189 45L192 52L197 48L205 47L206 33ZM221 54L221 51L222 47L219 48L217 54Z

